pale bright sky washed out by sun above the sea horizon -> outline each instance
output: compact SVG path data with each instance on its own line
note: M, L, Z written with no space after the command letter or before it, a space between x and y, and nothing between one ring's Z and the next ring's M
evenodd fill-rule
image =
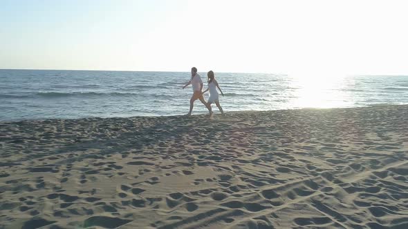
M2 0L0 68L408 74L405 1Z

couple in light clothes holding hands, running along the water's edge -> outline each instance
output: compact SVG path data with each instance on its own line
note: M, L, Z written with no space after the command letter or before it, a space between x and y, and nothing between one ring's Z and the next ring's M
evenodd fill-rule
M200 75L197 73L197 68L193 67L192 68L192 79L190 79L190 81L188 81L188 83L185 84L185 86L183 86L183 89L189 86L190 84L192 84L193 86L194 93L192 95L192 99L190 99L190 110L187 114L188 116L192 115L194 101L196 101L197 99L200 99L201 103L203 103L205 107L207 107L208 112L210 112L210 117L212 116L212 113L213 113L211 109L211 103L213 102L215 102L216 106L221 111L221 114L224 115L223 108L221 108L220 101L219 101L219 94L216 91L216 88L220 90L223 96L224 94L215 79L213 71L207 72L207 83L208 83L207 90L203 91L203 81L201 80ZM208 101L206 102L203 97L203 94L207 92L208 90L210 90L210 98L208 98Z

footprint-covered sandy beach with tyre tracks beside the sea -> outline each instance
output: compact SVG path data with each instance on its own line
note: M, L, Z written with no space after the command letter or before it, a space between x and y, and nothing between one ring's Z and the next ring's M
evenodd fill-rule
M408 228L408 106L0 132L0 228Z

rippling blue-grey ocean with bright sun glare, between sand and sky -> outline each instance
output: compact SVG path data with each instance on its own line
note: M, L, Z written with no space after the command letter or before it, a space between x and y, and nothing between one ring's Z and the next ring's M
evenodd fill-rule
M408 76L215 73L225 112L408 103ZM199 74L207 88L207 74ZM0 70L0 121L184 115L192 88L182 87L190 77L189 72ZM213 110L219 112L215 104ZM205 113L196 101L193 115Z

